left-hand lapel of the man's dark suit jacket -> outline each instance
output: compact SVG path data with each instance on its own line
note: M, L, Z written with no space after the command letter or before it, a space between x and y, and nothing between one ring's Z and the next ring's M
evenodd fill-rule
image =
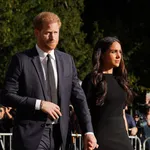
M43 69L42 69L42 65L41 65L41 62L40 62L40 58L39 58L39 55L38 55L38 52L35 49L33 49L33 59L32 59L32 62L33 62L33 65L35 67L35 70L39 76L39 81L41 83L41 86L42 86L42 90L43 90L43 93L44 93L44 97L45 99L46 98L46 83L45 83L45 80L44 80L44 74L43 74Z

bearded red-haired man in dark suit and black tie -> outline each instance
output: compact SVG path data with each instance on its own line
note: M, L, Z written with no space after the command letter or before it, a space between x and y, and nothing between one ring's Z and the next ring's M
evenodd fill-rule
M91 117L74 61L56 50L60 19L42 12L33 25L36 47L12 57L4 84L4 104L17 109L13 149L66 150L70 100L84 135L84 148L94 149Z

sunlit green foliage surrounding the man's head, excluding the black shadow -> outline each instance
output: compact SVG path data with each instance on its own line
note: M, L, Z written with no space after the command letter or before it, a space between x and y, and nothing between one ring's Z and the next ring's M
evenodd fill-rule
M74 57L83 79L91 59L91 47L85 43L86 35L81 31L83 0L1 0L0 8L0 86L11 56L35 45L32 20L42 11L52 11L61 18L58 47Z

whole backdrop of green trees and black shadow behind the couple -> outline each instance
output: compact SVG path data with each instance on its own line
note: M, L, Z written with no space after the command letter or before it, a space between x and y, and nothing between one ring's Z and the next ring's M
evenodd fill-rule
M34 16L42 11L52 11L62 21L58 48L73 56L81 80L91 69L92 51L97 40L103 36L117 36L122 43L133 88L138 93L149 90L148 2L1 0L0 86L11 56L35 45Z

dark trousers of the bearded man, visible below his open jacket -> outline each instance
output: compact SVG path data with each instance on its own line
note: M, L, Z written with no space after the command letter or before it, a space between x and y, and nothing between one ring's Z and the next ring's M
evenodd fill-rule
M61 150L61 134L59 124L46 125L37 150Z

